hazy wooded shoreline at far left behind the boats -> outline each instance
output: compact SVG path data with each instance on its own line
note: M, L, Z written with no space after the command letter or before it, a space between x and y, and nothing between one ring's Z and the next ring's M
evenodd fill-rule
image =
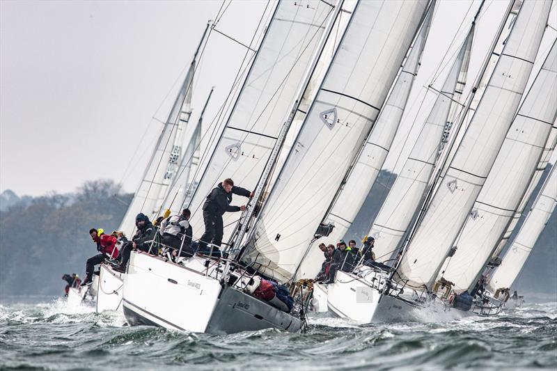
M112 180L85 182L75 194L19 202L14 195L0 211L0 296L61 294L62 275L83 276L86 259L97 253L88 230L118 228L133 196Z

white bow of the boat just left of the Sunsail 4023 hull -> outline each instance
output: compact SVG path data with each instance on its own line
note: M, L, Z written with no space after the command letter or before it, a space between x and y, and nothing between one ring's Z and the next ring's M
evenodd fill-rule
M109 265L100 266L97 285L97 313L104 312L104 310L122 310L123 276L123 273L114 271Z

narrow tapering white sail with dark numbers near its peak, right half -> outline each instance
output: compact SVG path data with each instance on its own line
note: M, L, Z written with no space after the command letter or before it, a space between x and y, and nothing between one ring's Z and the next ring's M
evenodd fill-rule
M458 102L466 84L474 29L472 26L466 36L414 147L370 229L368 235L375 238L375 256L379 261L389 259L407 233L439 159L440 147L458 112L453 109L449 119L451 106L461 106Z

